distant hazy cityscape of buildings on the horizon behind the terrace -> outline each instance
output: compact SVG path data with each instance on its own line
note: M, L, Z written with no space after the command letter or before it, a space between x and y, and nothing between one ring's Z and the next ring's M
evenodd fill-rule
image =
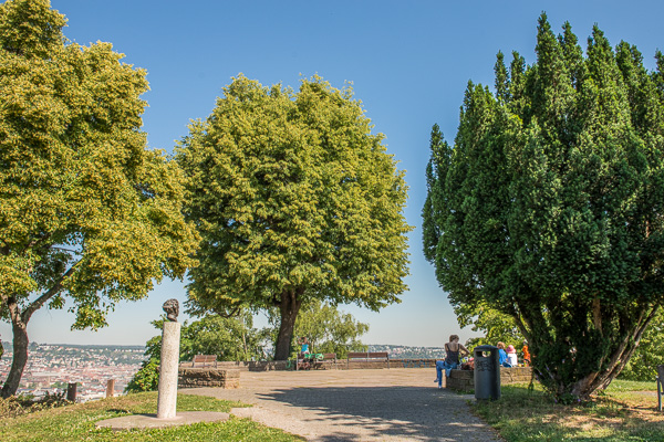
M3 341L0 358L0 382L9 375L12 346ZM369 351L387 351L391 359L442 359L445 349L438 347L408 347L369 345ZM18 393L44 396L66 390L69 382L77 382L76 397L81 402L102 399L106 382L115 380L115 394L125 387L145 359L143 346L86 346L70 344L30 343L28 366L23 371Z

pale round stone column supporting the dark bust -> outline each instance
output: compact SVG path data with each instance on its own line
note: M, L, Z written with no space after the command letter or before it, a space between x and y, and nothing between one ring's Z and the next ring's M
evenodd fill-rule
M179 364L180 324L164 322L162 332L162 366L159 368L159 397L157 419L173 419L177 406L177 368Z

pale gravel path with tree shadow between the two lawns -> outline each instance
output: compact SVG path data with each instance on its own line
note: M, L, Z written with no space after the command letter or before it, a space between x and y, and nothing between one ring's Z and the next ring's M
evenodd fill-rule
M501 441L470 414L473 396L438 390L434 378L424 368L243 371L237 390L179 391L252 403L231 413L308 441Z

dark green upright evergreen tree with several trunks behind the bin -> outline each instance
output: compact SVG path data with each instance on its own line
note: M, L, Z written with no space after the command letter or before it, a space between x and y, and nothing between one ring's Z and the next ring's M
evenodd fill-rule
M454 148L432 136L424 250L453 304L510 315L540 381L587 398L664 301L664 57L539 20L537 61L469 84Z

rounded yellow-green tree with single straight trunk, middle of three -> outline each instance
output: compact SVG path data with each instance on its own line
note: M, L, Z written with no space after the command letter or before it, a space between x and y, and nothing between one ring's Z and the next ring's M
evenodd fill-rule
M278 307L286 359L309 299L378 309L407 274L403 171L350 88L234 78L176 159L203 241L189 296L217 313Z

